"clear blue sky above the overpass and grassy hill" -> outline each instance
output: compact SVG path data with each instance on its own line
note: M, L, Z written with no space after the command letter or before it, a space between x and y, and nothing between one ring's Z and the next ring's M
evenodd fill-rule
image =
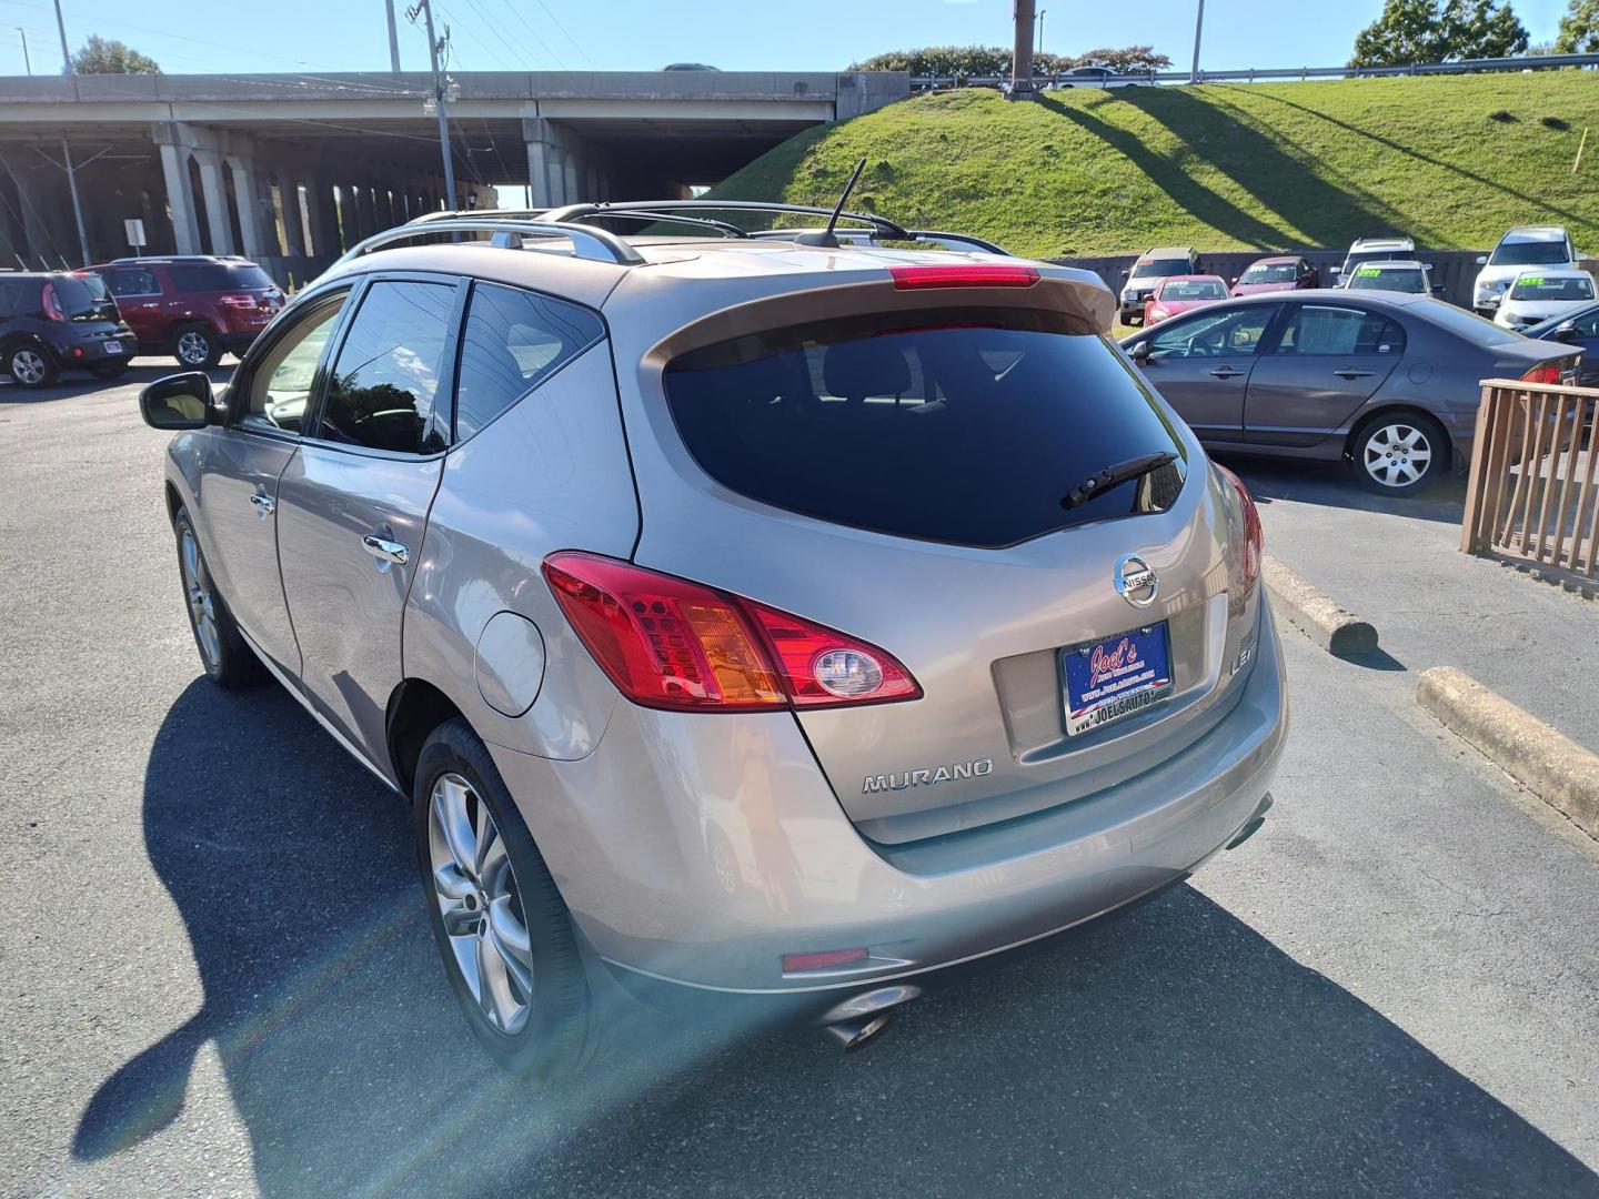
M724 70L831 70L883 50L1009 40L1011 0L437 0L464 70L652 70L673 61ZM1188 66L1194 0L1107 5L1039 0L1044 48L1153 43ZM74 46L120 38L168 72L385 70L384 0L62 0ZM408 69L427 40L405 22ZM1207 0L1201 62L1226 67L1337 66L1382 0ZM1533 42L1554 37L1565 0L1514 0ZM22 74L16 27L34 70L59 70L51 0L0 0L0 74Z

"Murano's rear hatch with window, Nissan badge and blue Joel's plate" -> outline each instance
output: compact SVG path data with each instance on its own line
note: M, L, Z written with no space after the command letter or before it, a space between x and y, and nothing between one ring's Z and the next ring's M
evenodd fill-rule
M1081 801L1236 694L1244 504L1103 337L1111 307L1076 280L833 286L646 355L636 561L878 646L921 686L795 716L868 838Z

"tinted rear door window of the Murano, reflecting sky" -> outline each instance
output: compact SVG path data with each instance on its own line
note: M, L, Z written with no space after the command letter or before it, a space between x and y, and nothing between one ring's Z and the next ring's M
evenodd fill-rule
M451 286L374 283L339 347L317 435L401 454L443 449L433 403L454 307Z

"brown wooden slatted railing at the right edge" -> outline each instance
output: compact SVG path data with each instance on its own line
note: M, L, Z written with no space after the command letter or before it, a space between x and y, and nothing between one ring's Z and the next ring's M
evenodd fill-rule
M1460 548L1599 580L1599 390L1489 379Z

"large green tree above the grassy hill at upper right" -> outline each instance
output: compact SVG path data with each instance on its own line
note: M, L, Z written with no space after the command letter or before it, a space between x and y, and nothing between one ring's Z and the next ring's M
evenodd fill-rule
M1511 58L1529 40L1508 0L1386 0L1382 16L1354 38L1350 66Z

